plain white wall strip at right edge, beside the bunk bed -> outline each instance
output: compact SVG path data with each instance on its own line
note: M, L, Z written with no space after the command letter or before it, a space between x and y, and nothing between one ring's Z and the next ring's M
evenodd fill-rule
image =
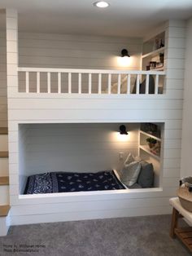
M192 18L188 20L185 50L185 90L182 126L181 177L192 175Z

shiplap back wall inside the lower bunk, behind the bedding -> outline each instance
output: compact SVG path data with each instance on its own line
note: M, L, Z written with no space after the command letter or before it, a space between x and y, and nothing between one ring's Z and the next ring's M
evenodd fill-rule
M129 135L122 141L120 125L121 123L27 125L23 142L23 147L26 148L25 175L51 170L119 170L129 152L137 156L139 128L138 124L128 124ZM21 130L23 127L26 125L21 125ZM121 160L119 152L124 153Z

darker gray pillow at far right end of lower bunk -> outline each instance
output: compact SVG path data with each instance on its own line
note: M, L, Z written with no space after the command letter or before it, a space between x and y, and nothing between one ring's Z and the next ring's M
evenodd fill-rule
M141 171L138 175L137 183L142 188L152 188L154 183L153 165L146 161L141 161Z

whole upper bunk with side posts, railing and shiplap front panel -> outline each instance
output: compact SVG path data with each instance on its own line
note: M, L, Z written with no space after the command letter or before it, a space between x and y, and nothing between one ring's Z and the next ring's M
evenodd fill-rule
M7 12L10 120L178 118L183 99L184 30L182 21L169 21L144 39L18 34L17 14ZM160 46L162 34L164 46ZM131 55L127 66L117 61L124 59L120 57L123 48ZM162 66L154 68L154 63Z

